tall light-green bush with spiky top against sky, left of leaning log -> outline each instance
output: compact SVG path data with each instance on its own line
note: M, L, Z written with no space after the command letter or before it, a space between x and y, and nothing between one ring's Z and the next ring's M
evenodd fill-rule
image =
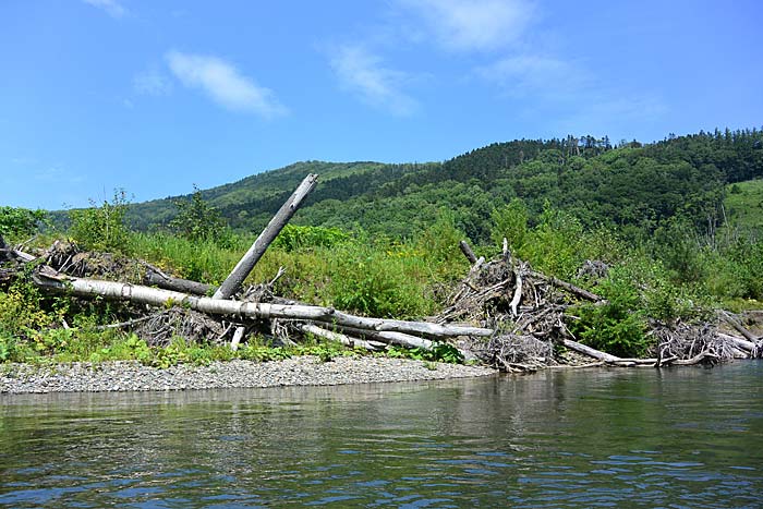
M128 203L124 190L116 190L111 203L104 201L98 207L90 199L90 208L70 210L72 239L86 250L124 253L130 234L124 221Z

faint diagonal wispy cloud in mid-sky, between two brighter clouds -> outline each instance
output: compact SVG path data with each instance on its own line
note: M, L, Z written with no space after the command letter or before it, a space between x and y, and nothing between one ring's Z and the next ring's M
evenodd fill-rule
M342 88L376 108L395 116L407 117L419 107L417 102L400 88L401 84L410 81L410 76L383 66L378 57L361 46L336 48L330 64Z

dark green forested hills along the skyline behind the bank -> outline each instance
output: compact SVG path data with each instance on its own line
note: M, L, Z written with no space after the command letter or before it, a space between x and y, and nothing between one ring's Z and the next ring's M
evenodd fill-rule
M445 162L299 162L203 191L234 229L258 230L300 180L319 184L293 222L405 237L443 213L473 241L488 239L491 215L521 198L531 218L548 204L585 226L652 229L680 215L698 227L723 217L725 184L763 178L763 132L700 132L642 145L584 136L496 143ZM135 204L134 226L166 225L174 199Z

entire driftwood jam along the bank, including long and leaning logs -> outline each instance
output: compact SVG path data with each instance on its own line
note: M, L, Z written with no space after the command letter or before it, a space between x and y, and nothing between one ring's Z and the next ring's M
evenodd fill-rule
M725 313L718 315L719 323L729 326L723 332L711 324L653 324L655 349L650 359L621 359L581 344L568 328L574 319L568 311L583 302L602 305L605 301L585 289L533 270L511 256L506 241L502 255L491 262L477 259L469 245L461 243L471 270L453 289L446 308L427 322L355 316L281 299L272 289L282 270L268 282L242 288L316 180L317 175L305 178L219 288L172 277L142 260L82 252L66 242L57 242L32 255L5 245L1 237L0 286L8 284L25 267L34 266L33 281L45 292L119 302L122 322L100 328L130 329L153 346L166 346L180 336L189 341L226 343L235 350L253 334L286 344L311 335L372 351L390 344L433 350L437 344L449 343L467 359L477 359L507 372L570 363L714 364L763 354L763 340ZM586 263L579 278L595 280L604 277L606 270L602 263Z

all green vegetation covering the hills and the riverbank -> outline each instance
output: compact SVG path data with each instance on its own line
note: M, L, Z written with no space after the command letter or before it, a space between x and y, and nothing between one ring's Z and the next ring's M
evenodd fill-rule
M251 276L252 282L266 281L284 267L275 291L286 298L371 316L424 317L443 308L469 268L459 240L492 257L506 238L535 269L607 299L605 305L581 305L568 327L618 355L647 352L650 319L692 322L719 306L763 307L758 130L643 146L591 136L517 141L443 163L296 163L185 198L129 205L118 192L112 203L72 210L69 234L86 249L120 251L217 284L306 172L320 173L320 184ZM43 213L0 208L0 228L16 239L31 235L43 219ZM586 259L611 270L601 280L579 277ZM306 351L272 349L262 338L250 338L237 353L182 338L154 349L97 329L121 316L117 305L96 310L44 296L24 281L0 287L0 361L169 365ZM316 344L311 348L322 357L335 355ZM457 361L444 349L404 354Z

